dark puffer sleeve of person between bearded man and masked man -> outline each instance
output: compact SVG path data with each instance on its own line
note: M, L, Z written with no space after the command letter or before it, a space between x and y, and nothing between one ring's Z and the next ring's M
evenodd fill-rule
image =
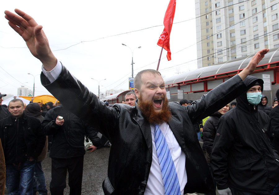
M204 147L209 156L211 156L212 153L212 146L213 146L215 134L216 134L216 129L212 124L212 121L206 120L203 126L202 136L203 136Z

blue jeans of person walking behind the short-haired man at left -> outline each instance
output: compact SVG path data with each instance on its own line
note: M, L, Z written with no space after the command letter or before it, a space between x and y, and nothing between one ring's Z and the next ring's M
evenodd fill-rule
M47 194L45 175L42 170L42 161L36 162L34 171L33 194Z

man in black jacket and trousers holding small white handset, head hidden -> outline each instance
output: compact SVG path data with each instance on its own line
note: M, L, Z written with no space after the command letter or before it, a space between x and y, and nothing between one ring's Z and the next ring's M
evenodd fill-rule
M62 116L60 120L58 117ZM84 136L87 135L93 146L93 152L100 144L97 132L63 105L49 110L42 122L46 135L53 135L49 156L51 157L52 195L63 195L66 188L66 176L69 172L70 194L81 194L84 150Z

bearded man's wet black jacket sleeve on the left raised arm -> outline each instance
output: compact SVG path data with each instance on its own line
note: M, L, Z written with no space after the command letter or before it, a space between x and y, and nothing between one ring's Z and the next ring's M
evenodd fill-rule
M100 133L111 139L116 129L120 109L106 106L64 66L54 82L50 83L43 73L41 73L41 82L68 110L89 125L101 127Z

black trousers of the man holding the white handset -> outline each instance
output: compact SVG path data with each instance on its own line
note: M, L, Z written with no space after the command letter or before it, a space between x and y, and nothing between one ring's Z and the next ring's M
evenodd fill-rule
M52 195L63 195L66 188L67 171L70 195L81 195L83 156L69 159L51 158L50 192Z

